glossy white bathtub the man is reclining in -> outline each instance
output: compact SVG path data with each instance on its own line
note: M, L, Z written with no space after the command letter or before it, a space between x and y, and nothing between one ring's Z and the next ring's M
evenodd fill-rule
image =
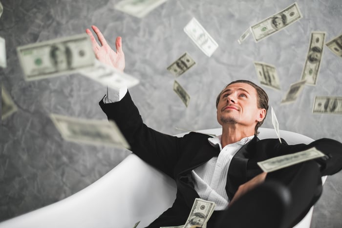
M261 139L277 137L274 129L259 128L259 131ZM219 135L221 128L198 132ZM289 144L313 141L282 130L280 136ZM4 221L0 228L132 228L138 221L141 221L138 228L142 228L169 208L175 195L176 184L170 177L131 154L85 189L52 205ZM295 228L309 228L312 212L313 207Z

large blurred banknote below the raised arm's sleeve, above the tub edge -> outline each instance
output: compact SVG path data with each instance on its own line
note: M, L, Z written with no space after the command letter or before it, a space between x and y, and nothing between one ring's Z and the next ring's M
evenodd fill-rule
M113 121L50 114L57 130L67 141L129 149L128 142Z

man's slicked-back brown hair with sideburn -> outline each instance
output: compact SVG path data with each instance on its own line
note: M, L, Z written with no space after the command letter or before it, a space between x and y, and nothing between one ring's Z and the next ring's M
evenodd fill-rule
M257 104L256 104L256 106L257 106L258 109L265 109L266 110L266 114L267 114L267 111L268 111L268 96L267 96L267 93L261 87L257 86L256 84L254 84L253 82L248 81L248 80L236 80L236 81L233 81L233 82L229 83L228 85L226 85L223 88L223 90L218 94L218 96L216 98L216 109L217 109L218 102L220 101L220 97L221 97L222 92L224 91L224 89L227 88L227 86L230 86L230 85L235 84L235 83L246 83L248 85L251 85L254 89L256 89L256 96L257 96ZM266 114L265 114L265 117L263 118L263 120L257 122L255 130L254 130L254 134L255 135L258 134L257 129L264 122L264 120L266 118Z

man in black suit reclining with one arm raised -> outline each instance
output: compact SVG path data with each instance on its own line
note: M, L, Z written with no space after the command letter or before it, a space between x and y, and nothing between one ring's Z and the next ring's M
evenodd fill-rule
M116 39L114 52L100 30L92 28L101 43L86 30L96 57L123 71L121 37ZM127 90L118 91L116 97L112 103L100 101L108 119L117 123L133 153L177 184L173 205L149 228L184 225L199 197L216 204L208 228L292 227L321 195L321 176L342 168L342 144L335 140L320 139L309 145L287 145L278 138L259 140L257 129L267 114L268 96L250 81L232 82L217 96L217 121L222 125L218 137L194 132L184 137L162 134L143 123ZM267 175L256 164L313 146L327 156Z

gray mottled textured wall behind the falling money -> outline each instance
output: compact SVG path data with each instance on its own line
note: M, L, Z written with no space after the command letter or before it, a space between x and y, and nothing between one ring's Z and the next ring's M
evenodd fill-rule
M6 40L7 65L0 80L19 110L0 124L0 221L51 204L96 181L130 152L64 141L49 113L103 119L98 106L106 88L80 74L25 82L16 46L85 32L97 25L108 43L123 37L126 72L141 83L130 89L150 127L178 134L175 127L219 127L214 101L235 79L257 82L253 61L275 65L281 91L265 88L280 129L314 139L342 141L341 115L312 114L315 95L342 96L342 60L325 47L317 86L306 86L299 99L280 106L291 83L300 79L311 31L326 41L342 33L341 0L298 0L303 18L285 30L242 45L239 36L293 0L168 0L143 19L114 9L118 0L0 0L0 36ZM195 17L219 47L211 58L183 32ZM196 65L177 80L191 96L185 108L172 91L166 68L187 51ZM263 127L272 128L270 115ZM315 207L312 227L342 227L342 172L329 177Z

